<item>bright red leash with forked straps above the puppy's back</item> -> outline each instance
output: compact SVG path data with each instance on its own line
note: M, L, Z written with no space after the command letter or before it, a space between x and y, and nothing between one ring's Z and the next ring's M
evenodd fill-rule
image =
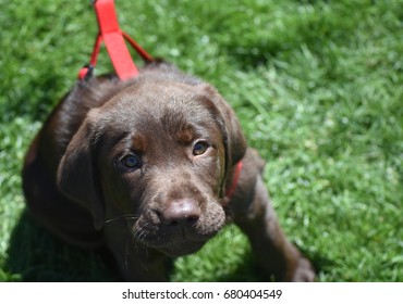
M114 10L114 0L96 0L94 1L94 9L97 15L99 33L95 40L89 64L80 71L78 78L84 79L93 74L102 42L107 47L109 58L118 77L121 80L136 77L138 75L138 68L133 62L124 40L127 40L144 61L151 62L154 59L126 33L120 29Z

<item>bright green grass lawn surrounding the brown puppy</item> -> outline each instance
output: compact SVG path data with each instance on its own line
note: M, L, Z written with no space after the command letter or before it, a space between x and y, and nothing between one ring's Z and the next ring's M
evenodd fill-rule
M5 3L7 2L7 3ZM74 2L74 3L73 3ZM146 50L235 109L290 239L320 281L403 281L403 1L117 1ZM20 172L97 31L88 1L0 1L0 280L113 280L24 213ZM105 52L99 73L110 68ZM176 281L258 280L224 230Z

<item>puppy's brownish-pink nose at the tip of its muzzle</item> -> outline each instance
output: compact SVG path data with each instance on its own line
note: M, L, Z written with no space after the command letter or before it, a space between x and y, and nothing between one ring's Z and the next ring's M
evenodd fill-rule
M167 226L193 225L200 215L198 203L191 199L174 201L160 214L162 224Z

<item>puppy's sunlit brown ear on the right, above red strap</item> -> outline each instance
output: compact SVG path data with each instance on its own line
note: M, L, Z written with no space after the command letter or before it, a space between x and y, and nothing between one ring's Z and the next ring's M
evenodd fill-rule
M240 122L234 111L219 92L209 85L200 85L199 87L203 94L213 103L215 109L212 111L218 112L215 114L224 138L225 167L230 168L241 161L246 152L245 136L242 132Z

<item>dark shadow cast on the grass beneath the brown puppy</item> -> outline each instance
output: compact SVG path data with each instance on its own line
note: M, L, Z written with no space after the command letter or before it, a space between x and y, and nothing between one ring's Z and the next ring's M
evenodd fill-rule
M106 251L82 251L69 246L39 227L24 211L11 236L7 280L30 282L120 281ZM234 273L217 281L261 281L251 254Z

